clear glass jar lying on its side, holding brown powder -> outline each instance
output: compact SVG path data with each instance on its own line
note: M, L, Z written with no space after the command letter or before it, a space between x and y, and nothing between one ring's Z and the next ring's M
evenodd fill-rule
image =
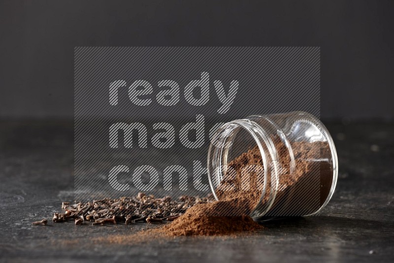
M226 123L211 136L207 165L217 200L252 192L257 196L254 201L251 196L248 212L255 220L319 214L338 175L327 128L300 111Z

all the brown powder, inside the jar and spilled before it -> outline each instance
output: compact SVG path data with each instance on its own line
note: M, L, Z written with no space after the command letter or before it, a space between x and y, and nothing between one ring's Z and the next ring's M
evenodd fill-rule
M281 213L287 216L300 216L317 211L327 199L332 183L332 169L328 163L330 156L328 143L292 143L295 156L295 168L292 169L286 146L280 140L274 142L284 172L279 177L281 191L277 193L266 216L280 216ZM321 162L316 162L317 156ZM177 236L228 235L263 229L249 216L261 198L260 177L256 172L251 172L249 190L243 191L241 187L241 170L245 166L263 167L259 148L256 146L248 150L232 160L229 165L234 168L236 175L221 182L216 191L219 201L195 205L170 225L158 231L165 235ZM233 190L221 190L229 185L234 187ZM269 191L267 189L268 194Z

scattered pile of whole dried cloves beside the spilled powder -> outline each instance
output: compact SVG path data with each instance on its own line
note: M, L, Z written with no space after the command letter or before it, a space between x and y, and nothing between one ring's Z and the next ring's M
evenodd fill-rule
M134 197L103 198L87 203L62 202L64 213L55 213L52 221L60 223L74 220L75 225L82 225L85 220L93 221L93 225L119 222L126 225L136 222L164 223L173 221L195 204L212 201L213 196L181 196L177 200L169 196L155 198L153 195L139 193Z

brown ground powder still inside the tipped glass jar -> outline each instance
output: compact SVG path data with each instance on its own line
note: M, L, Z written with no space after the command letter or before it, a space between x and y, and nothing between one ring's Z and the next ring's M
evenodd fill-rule
M265 216L301 216L317 211L326 201L332 183L328 142L293 142L291 148L295 166L291 167L291 157L286 145L279 138L274 138L273 141L282 169L275 201ZM262 196L260 186L263 184L263 160L258 146L241 154L229 165L235 169L236 176L222 181L216 194L219 200L242 200L245 214L250 214ZM250 165L261 167L258 170L260 176L258 172L251 170L248 174L249 190L242 190L241 171ZM228 190L230 185L233 190ZM263 203L267 201L271 189L266 187L265 190Z

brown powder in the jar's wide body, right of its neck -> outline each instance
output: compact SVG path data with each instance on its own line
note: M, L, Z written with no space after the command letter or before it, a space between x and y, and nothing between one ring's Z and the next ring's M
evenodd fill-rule
M265 216L302 216L316 212L326 201L332 184L330 148L326 141L293 142L295 167L286 146L274 140L279 163L279 191Z

